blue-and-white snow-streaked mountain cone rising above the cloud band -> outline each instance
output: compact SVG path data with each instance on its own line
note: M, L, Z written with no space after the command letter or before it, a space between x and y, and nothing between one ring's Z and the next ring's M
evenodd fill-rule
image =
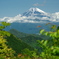
M39 17L44 17L47 16L47 13L38 9L38 8L30 8L27 12L23 13L22 16L39 16Z

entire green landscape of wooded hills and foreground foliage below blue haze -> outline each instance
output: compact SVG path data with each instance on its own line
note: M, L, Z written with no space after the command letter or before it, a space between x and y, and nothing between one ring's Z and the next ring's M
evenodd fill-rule
M5 31L10 25L0 22L0 59L59 59L58 25L47 23L51 30L41 29L40 35Z

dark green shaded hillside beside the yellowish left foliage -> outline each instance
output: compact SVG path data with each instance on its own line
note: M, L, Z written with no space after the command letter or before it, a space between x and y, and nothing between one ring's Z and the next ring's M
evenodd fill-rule
M16 53L21 53L23 49L28 48L30 50L33 50L31 46L24 43L21 39L18 39L14 35L10 34L10 36L7 36L7 44L9 47L11 47Z

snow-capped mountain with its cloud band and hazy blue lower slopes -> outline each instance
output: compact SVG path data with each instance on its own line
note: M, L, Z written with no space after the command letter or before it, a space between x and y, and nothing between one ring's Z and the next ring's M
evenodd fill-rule
M36 34L39 33L40 30L40 28L37 28L38 25L46 30L49 30L48 27L45 26L46 22L52 22L53 24L59 25L59 12L50 14L39 8L30 8L22 15L19 14L14 17L0 18L0 22L1 21L12 23L6 30L14 28L24 33Z

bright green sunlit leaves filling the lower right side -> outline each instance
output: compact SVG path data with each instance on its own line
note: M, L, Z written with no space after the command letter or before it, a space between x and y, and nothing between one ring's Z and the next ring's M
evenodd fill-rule
M51 30L45 31L42 29L40 34L49 37L47 40L38 40L39 46L42 48L40 57L42 59L59 59L59 26L52 25Z

